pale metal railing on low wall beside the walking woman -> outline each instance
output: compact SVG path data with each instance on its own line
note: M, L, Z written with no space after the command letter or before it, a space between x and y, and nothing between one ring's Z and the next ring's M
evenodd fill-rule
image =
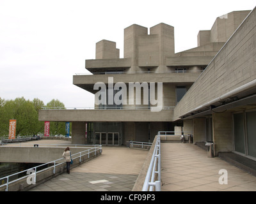
M48 144L48 145L49 145L49 144ZM88 155L88 158L89 158L89 157L90 157L90 153L94 152L94 153L95 153L94 155L96 155L97 150L100 150L100 153L102 153L102 145L94 145L94 147L92 147L91 149L84 150L84 151L78 152L78 153L76 153L76 154L72 154L72 159L74 160L74 159L79 158L79 163L81 163L81 161L82 161L82 156ZM28 172L31 172L31 171L33 171L33 173L34 173L33 176L34 176L35 182L36 182L36 173L40 173L40 172L42 172L42 171L46 171L46 170L49 170L49 169L52 168L52 169L53 169L53 170L52 170L52 173L55 174L56 167L59 166L59 165L61 165L61 164L64 164L64 163L65 163L65 161L63 161L63 162L61 162L61 163L57 163L57 162L60 161L60 160L63 161L63 158L56 159L56 160L54 160L54 161L50 161L50 162L48 162L48 163L41 164L41 165L35 166L35 167L33 167L33 168L29 168L29 169L24 170L24 171L19 171L18 173L13 173L12 175L8 175L8 176L6 176L6 177L0 178L0 180L2 180L2 181L3 181L4 179L6 179L6 183L5 183L5 184L2 184L0 187L6 186L5 191L8 191L9 184L12 184L13 182L17 182L18 180L26 179L26 178L28 178L29 176L31 176L31 174L29 173L29 174L26 175L26 176L22 176L22 177L20 177L19 179L14 179L14 180L10 180L11 177L14 177L14 176L18 176L18 177L19 177L20 174L28 173ZM42 166L49 165L49 164L51 164L52 166L49 166L49 167L47 167L47 168L44 168L43 170L38 170L38 168L40 168L40 167L42 168Z

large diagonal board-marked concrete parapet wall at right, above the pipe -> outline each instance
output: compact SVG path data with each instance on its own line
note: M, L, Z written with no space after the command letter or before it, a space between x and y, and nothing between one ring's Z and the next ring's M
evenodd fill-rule
M246 18L175 107L173 120L256 78L256 10Z

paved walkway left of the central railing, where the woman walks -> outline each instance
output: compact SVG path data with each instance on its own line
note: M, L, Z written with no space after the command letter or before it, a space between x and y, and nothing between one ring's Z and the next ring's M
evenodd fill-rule
M131 191L147 150L102 147L102 155L30 191Z

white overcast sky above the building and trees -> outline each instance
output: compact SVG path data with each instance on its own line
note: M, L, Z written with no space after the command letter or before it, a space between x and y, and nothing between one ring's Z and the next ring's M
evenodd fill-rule
M116 42L124 56L124 29L172 25L175 52L197 46L200 30L217 17L252 10L255 0L0 0L0 97L59 99L66 107L92 107L93 95L73 85L95 59L95 43Z

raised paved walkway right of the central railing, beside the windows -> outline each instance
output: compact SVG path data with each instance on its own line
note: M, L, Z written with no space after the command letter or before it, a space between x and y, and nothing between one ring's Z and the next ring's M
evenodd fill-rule
M190 143L161 143L161 167L161 191L256 191L256 177Z

